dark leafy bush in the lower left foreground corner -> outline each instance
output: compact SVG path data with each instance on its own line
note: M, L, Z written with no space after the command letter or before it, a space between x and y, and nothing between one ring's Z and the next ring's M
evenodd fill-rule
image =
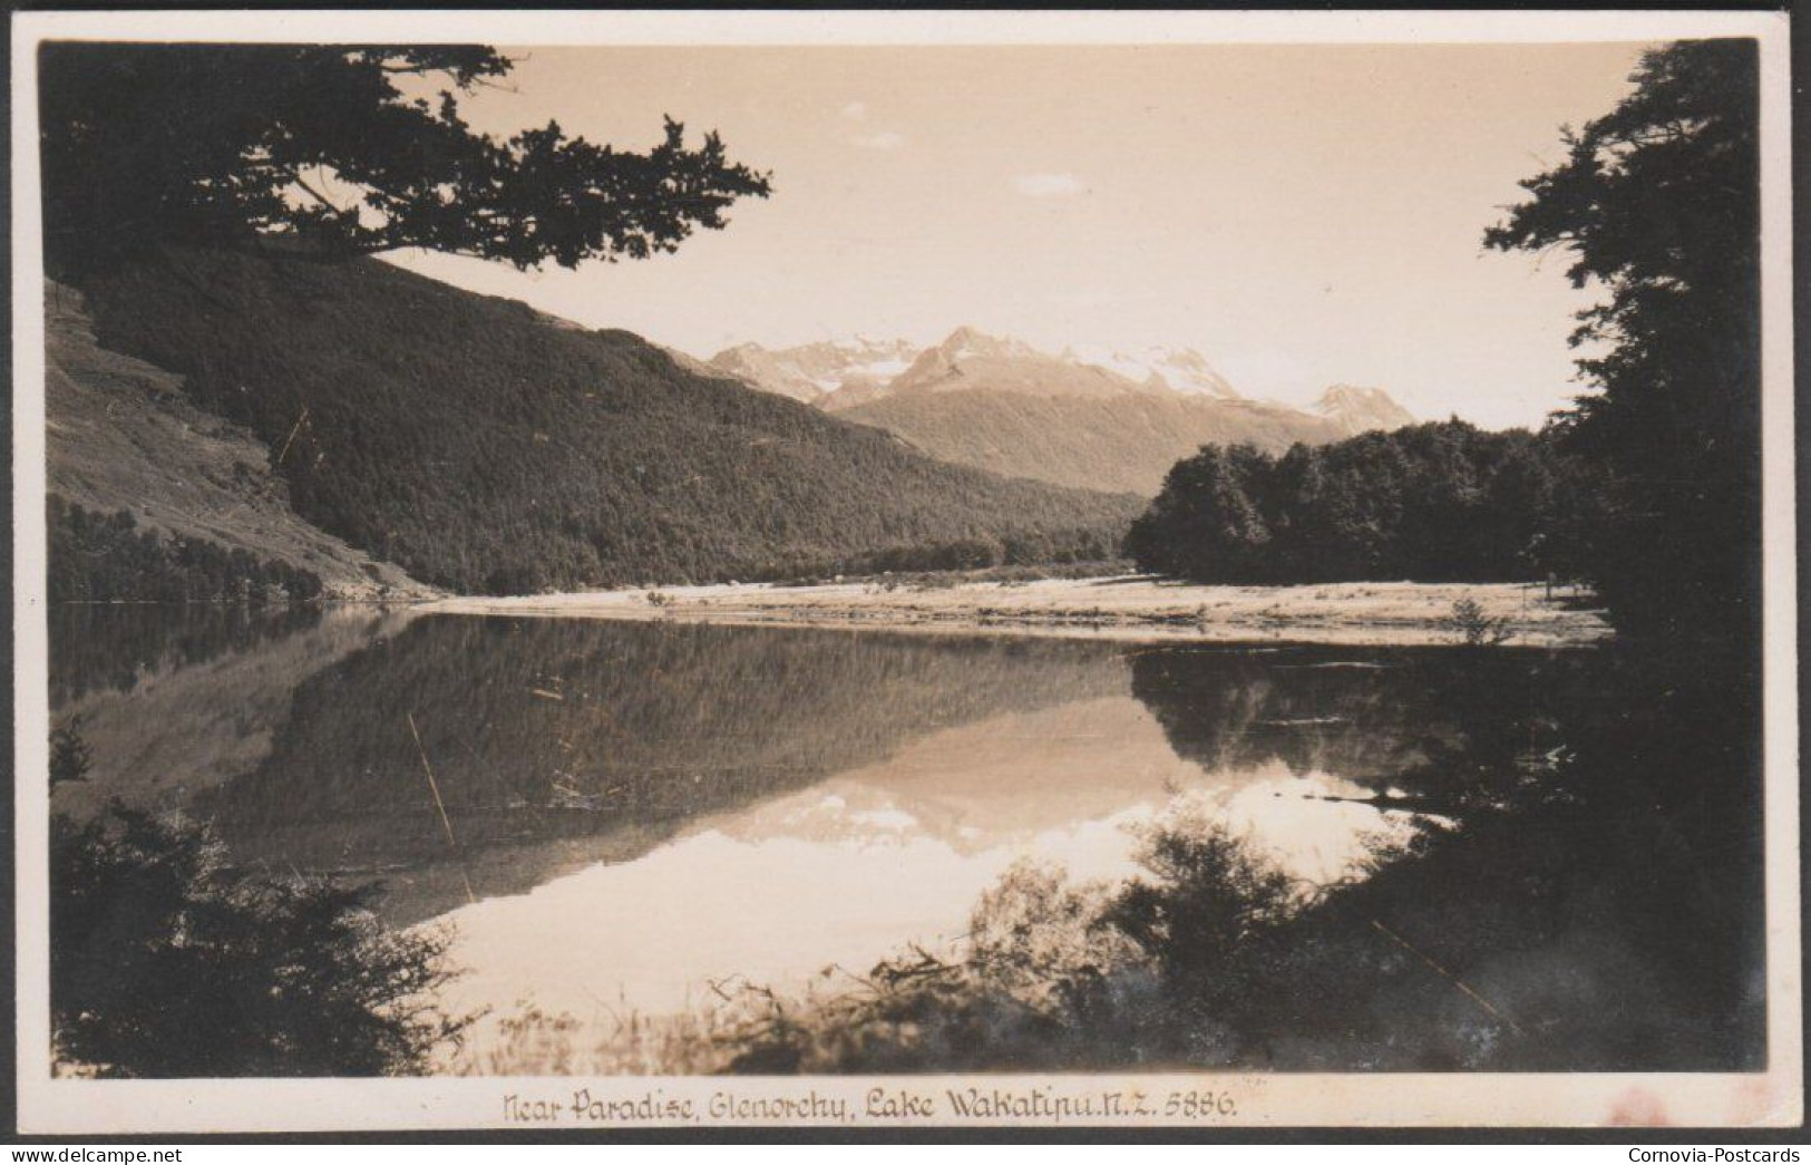
M444 933L386 929L369 888L225 868L206 830L112 806L51 828L51 1011L63 1071L377 1076L469 1022L435 1002Z

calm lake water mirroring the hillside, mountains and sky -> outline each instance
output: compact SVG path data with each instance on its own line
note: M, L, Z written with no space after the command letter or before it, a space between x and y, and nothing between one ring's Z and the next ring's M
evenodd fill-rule
M63 609L53 643L94 752L58 810L181 806L239 866L382 881L389 922L456 928L453 1002L578 1018L953 942L1016 861L1135 873L1179 797L1351 875L1530 779L1588 656L359 607Z

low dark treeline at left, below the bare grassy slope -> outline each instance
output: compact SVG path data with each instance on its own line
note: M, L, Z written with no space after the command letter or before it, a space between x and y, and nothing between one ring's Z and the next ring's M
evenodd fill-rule
M288 602L321 596L321 576L205 538L139 529L130 511L96 513L51 495L53 603Z

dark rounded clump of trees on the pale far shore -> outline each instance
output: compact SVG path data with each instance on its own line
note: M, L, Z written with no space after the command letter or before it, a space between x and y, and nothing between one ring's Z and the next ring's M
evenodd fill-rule
M1463 420L1280 457L1208 446L1170 471L1126 553L1210 583L1567 576L1588 496L1552 442Z

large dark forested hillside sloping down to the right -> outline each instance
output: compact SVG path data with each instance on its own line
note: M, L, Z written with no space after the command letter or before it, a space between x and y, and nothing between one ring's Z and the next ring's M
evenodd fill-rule
M1105 556L1130 496L945 466L369 259L159 248L81 277L100 342L270 449L297 513L458 591Z

